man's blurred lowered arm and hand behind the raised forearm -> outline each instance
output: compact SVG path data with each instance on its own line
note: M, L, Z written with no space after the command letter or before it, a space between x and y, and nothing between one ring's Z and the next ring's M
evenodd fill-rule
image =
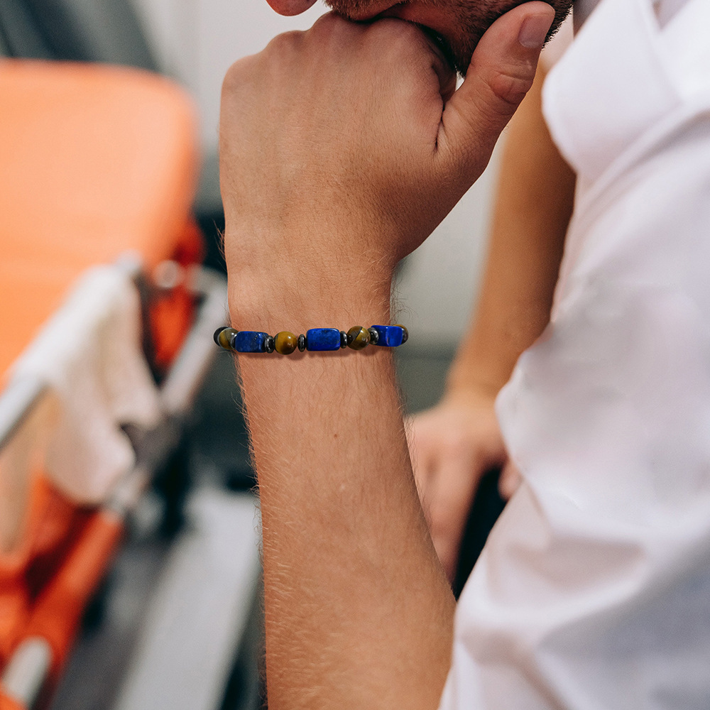
M517 469L508 460L493 405L515 361L550 320L572 215L574 173L542 118L544 78L538 69L506 131L479 305L444 397L414 417L408 430L417 486L449 579L481 476L502 466L503 497L517 486Z

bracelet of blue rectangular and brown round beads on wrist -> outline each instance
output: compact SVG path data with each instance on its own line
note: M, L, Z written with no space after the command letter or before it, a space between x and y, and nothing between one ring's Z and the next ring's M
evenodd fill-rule
M298 349L312 352L339 350L349 347L361 350L368 345L395 348L407 342L409 333L403 325L356 325L348 332L337 328L311 328L296 336L283 330L274 336L256 330L235 330L222 327L214 331L214 342L225 350L238 353L273 353L290 355Z

